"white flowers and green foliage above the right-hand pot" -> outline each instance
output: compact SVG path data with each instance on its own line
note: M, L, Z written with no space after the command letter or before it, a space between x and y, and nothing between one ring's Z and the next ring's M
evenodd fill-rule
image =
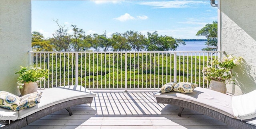
M203 68L204 79L230 83L233 81L232 77L235 76L232 69L240 63L243 63L242 57L237 58L232 55L223 57L221 61L214 59L211 63L212 67Z

